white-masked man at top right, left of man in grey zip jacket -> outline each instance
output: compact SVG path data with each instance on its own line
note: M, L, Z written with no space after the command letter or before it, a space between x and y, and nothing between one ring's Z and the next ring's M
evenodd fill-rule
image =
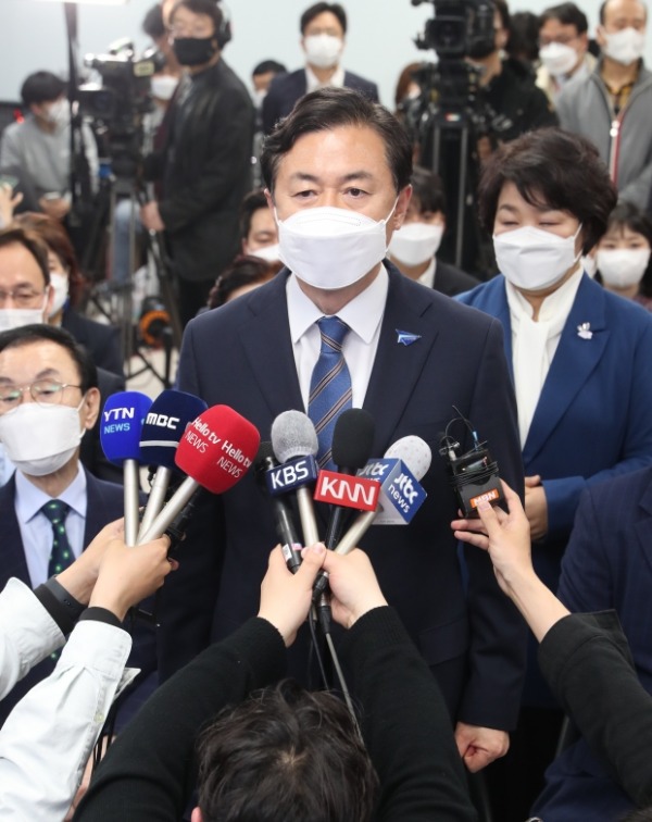
M586 79L595 67L588 32L587 15L575 3L552 5L539 17L537 86L553 105L567 83Z

